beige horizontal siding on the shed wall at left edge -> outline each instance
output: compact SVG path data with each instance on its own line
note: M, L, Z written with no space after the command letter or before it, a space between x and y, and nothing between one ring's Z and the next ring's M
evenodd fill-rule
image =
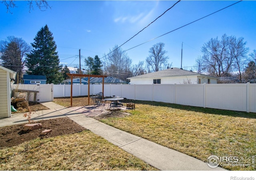
M7 107L7 72L0 69L0 118L8 117Z

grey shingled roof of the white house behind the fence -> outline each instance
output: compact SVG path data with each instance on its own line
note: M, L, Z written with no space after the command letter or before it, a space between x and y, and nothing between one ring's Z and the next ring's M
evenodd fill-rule
M166 69L166 70L151 72L151 73L148 73L148 74L142 74L142 75L130 77L130 78L127 78L127 79L162 78L162 77L170 77L170 76L192 76L192 75L208 76L208 75L205 75L205 74L200 74L200 73L196 73L196 72L192 72L192 71L188 71L188 70L183 70L183 69L179 69L179 68L169 68L169 69ZM208 77L216 78L216 77L213 77L213 76L208 76Z

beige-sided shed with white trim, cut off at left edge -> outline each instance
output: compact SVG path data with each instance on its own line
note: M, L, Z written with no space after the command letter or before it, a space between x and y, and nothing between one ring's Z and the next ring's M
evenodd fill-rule
M11 79L16 72L0 66L0 118L11 117Z

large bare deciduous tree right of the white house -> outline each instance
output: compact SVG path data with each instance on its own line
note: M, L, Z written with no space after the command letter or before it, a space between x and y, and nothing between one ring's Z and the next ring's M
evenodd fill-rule
M240 83L242 83L242 71L247 63L248 48L244 38L227 36L224 34L220 40L218 37L210 39L202 47L202 58L197 60L202 65L202 70L216 77L230 76L232 71L238 71Z

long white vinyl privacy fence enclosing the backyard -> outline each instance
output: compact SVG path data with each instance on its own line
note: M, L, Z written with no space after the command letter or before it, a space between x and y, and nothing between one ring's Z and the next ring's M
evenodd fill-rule
M70 97L71 92L71 85L66 84L19 84L19 89L21 87L40 91L38 93L39 102L52 101L53 97ZM90 84L90 95L99 92L102 92L102 84ZM88 85L73 85L72 96L88 96ZM133 100L256 112L256 84L250 83L104 84L104 96L121 96Z

